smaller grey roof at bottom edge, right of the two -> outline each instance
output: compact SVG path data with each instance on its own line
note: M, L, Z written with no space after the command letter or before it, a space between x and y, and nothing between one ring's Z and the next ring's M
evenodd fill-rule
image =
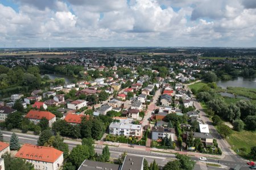
M143 157L126 155L121 170L141 170L143 162Z

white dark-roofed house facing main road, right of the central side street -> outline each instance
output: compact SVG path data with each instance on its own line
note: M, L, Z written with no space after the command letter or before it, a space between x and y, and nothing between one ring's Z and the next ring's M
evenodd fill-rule
M153 127L151 139L156 141L158 139L163 139L164 137L171 138L175 141L175 129L174 128L164 128L164 127Z

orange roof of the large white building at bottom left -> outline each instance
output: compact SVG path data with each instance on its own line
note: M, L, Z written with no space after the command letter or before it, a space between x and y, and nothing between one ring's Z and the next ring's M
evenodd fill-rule
M62 154L62 151L53 147L24 144L15 157L54 163Z

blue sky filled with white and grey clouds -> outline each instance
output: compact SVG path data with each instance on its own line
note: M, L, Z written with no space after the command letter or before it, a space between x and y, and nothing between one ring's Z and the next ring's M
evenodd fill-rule
M0 0L0 48L256 47L256 0Z

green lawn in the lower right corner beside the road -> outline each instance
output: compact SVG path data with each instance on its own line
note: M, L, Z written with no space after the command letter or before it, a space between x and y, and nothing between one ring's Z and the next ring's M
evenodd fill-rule
M256 131L233 131L233 134L230 135L226 140L229 142L230 146L238 155L246 157L250 152L250 148L256 146ZM243 152L241 148L246 148L246 151ZM239 152L238 152L239 150Z

